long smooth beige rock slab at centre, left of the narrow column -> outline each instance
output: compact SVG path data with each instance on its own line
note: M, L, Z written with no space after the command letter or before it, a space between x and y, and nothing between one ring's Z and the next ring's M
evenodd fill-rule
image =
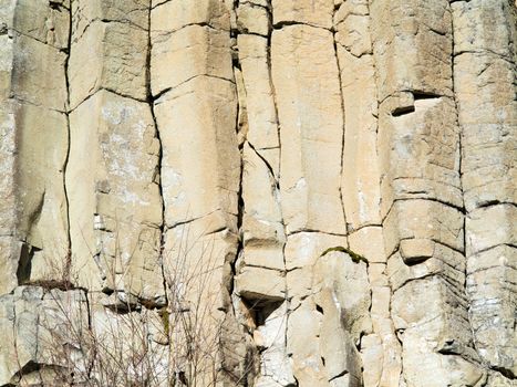
M344 233L339 191L343 113L332 34L308 25L275 31L271 60L287 231Z

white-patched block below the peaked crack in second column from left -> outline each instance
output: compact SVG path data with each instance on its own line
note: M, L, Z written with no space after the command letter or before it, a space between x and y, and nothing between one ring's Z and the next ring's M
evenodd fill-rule
M159 143L148 105L101 91L71 114L70 127L72 275L89 289L159 299Z

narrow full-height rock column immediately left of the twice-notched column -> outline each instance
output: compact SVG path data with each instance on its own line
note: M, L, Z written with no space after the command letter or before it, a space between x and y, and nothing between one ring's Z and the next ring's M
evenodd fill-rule
M361 341L364 386L399 386L401 346L390 316L391 290L381 220L378 97L368 1L344 1L334 14L344 107L341 192L350 249L369 261L372 335Z

